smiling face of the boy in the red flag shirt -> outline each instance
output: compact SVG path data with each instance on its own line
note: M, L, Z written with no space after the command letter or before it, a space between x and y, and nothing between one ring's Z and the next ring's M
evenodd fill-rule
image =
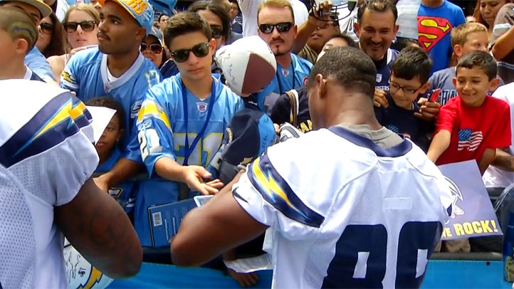
M478 67L458 68L453 84L463 103L470 107L479 107L483 104L489 91L498 86L498 78L489 80L486 73Z

